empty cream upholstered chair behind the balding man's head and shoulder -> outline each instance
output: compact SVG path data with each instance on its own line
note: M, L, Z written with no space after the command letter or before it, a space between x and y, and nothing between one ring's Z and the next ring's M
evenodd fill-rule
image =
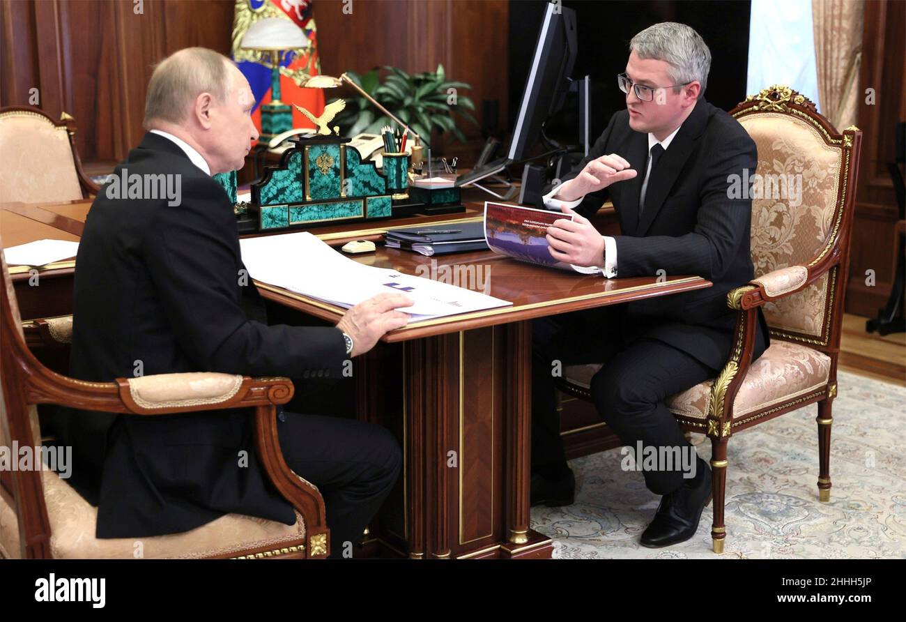
M65 112L53 121L40 108L0 108L0 203L86 199L98 186L82 170L75 125Z

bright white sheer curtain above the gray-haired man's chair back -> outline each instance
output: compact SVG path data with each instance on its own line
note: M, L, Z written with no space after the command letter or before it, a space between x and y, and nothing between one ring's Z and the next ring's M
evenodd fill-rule
M818 101L812 0L752 0L746 94L786 84Z

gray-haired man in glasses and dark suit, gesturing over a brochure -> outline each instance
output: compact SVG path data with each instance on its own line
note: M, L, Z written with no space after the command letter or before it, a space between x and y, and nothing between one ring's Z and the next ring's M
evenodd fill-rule
M714 286L535 323L532 501L573 502L552 370L603 363L591 393L621 441L633 451L690 456L643 469L648 488L663 497L641 543L663 547L694 535L710 499L710 468L695 457L665 400L715 377L727 361L735 323L727 293L754 277L751 200L730 198L729 176L754 173L757 151L737 121L702 98L710 52L693 29L655 24L633 37L630 50L618 77L627 110L613 115L588 156L545 195L548 209L576 214L548 229L551 254L600 267L606 277L687 274ZM612 238L585 218L608 198L622 230ZM760 318L755 356L766 347Z

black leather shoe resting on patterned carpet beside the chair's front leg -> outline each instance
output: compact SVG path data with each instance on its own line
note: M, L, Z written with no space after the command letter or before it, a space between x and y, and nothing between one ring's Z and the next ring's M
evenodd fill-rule
M641 546L651 549L669 547L685 542L699 529L701 512L711 502L711 468L697 458L697 468L703 470L698 483L684 483L678 490L660 498L654 520L641 534ZM693 480L694 481L694 480Z

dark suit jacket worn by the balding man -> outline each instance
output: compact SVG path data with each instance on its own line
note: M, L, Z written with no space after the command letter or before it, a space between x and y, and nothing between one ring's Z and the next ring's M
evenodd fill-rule
M244 269L226 192L169 139L148 133L121 169L181 176L182 202L92 203L76 258L75 378L143 374L342 375L346 348L333 327L267 326ZM186 531L236 512L286 524L292 506L255 457L250 409L142 417L58 413L72 445L72 484L98 510L98 538ZM239 452L247 452L247 467Z

